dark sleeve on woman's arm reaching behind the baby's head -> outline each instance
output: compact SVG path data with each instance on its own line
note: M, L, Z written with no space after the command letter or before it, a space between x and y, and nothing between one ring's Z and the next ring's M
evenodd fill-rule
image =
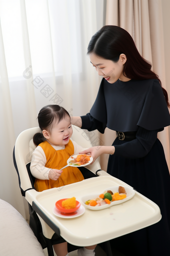
M80 116L82 120L82 126L81 129L86 129L89 132L98 130L101 134L104 133L106 123L100 122L94 117L91 116L90 113L87 113L86 115Z

